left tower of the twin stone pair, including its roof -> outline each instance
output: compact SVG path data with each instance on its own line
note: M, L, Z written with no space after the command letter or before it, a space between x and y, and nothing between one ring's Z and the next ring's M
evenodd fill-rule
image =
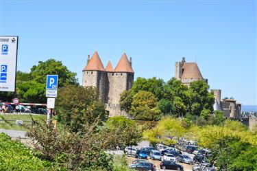
M99 99L105 102L106 100L106 69L95 52L92 58L88 59L86 67L83 69L82 86L96 87L99 92Z

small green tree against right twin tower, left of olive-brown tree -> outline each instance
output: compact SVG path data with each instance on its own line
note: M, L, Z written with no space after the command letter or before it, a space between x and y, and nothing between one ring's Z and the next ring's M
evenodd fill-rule
M133 102L133 98L131 95L131 91L123 91L121 93L121 99L119 101L119 105L121 106L121 110L126 111L127 113L129 113L130 109L131 109L131 104Z

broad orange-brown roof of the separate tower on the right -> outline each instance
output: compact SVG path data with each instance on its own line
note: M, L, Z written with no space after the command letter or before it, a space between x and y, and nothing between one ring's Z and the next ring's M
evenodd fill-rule
M184 62L182 78L203 79L196 62Z

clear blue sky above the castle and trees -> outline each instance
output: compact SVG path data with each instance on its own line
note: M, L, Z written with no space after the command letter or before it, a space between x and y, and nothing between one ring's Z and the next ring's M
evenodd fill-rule
M125 51L135 78L174 76L197 62L211 89L256 100L256 1L0 0L0 34L19 36L18 69L62 60L82 82L88 54L115 66Z

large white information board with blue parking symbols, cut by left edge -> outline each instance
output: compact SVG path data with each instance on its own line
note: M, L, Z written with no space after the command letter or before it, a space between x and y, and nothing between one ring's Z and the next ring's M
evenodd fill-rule
M0 91L15 91L18 36L0 36Z

